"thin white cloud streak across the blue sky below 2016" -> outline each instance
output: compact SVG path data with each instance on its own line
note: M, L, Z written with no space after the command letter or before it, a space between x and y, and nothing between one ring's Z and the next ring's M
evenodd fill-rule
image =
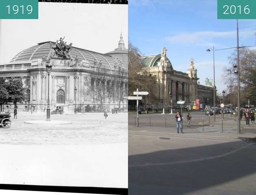
M255 30L247 28L240 30L240 38L248 38L254 36ZM198 32L181 32L177 35L166 37L166 40L170 43L182 43L186 45L196 44L200 46L210 47L212 45L221 46L214 43L215 38L234 38L236 37L236 30L226 32L215 32L215 31L198 31Z

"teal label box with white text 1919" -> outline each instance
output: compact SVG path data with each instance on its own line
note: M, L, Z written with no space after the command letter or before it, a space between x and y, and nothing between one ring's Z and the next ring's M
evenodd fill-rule
M38 19L38 0L0 0L0 19Z

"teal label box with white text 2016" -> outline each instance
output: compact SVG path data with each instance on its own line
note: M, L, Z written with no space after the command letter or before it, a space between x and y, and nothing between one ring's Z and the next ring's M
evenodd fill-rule
M256 0L217 0L218 19L256 19Z

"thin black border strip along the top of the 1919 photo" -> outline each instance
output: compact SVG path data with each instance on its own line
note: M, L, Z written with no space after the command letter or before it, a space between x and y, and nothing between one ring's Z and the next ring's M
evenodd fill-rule
M128 4L128 0L38 0L38 2Z

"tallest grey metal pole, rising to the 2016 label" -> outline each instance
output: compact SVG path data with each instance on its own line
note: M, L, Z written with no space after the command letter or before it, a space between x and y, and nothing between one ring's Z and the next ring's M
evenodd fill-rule
M241 133L240 130L240 68L239 68L239 35L238 35L238 19L236 19L236 40L237 40L237 82L238 82L238 92L237 92L237 104L238 104L238 122L237 122L237 130L238 133Z

